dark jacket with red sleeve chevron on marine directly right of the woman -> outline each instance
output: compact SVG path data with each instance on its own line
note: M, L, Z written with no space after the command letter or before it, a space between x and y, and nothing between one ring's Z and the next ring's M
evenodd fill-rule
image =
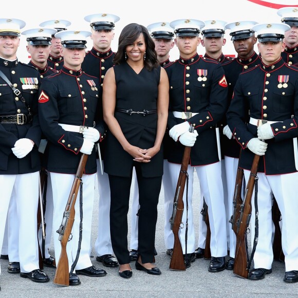
M228 85L222 66L198 54L190 59L175 61L164 67L170 81L170 103L167 126L170 129L179 123L189 121L195 124L198 137L191 150L191 165L206 165L218 162L215 126L228 108ZM206 81L198 81L199 72L204 70ZM199 113L189 120L175 118L172 111ZM170 140L169 162L182 162L184 146Z

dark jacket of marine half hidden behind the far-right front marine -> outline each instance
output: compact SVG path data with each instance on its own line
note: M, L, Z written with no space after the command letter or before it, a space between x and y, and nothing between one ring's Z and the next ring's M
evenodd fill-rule
M224 64L222 64L222 67L225 70L227 82L228 82L228 103L230 105L232 96L233 96L233 91L234 87L236 85L237 79L239 77L239 73L246 71L260 63L259 55L254 52L253 55L248 58L248 59L242 59L242 58L235 58L233 60L230 60ZM227 125L227 118L226 115L224 119L220 122L221 128L224 128ZM238 143L235 141L234 138L231 140L227 138L227 136L223 136L222 139L220 140L221 142L221 148L222 148L222 154L229 156L229 157L234 157L234 158L239 158L240 154L240 147Z

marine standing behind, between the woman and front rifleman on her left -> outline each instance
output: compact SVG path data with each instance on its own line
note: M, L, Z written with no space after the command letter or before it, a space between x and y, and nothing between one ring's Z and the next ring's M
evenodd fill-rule
M114 39L115 23L120 20L119 16L108 13L91 14L84 18L91 27L91 39L93 47L87 51L82 64L82 70L91 76L99 78L100 85L106 71L113 66L115 52L110 48L111 41ZM102 89L100 89L100 98ZM103 158L105 141L100 145L101 158ZM98 153L97 153L98 155ZM97 159L97 181L99 191L98 204L98 235L95 241L96 259L106 267L118 266L117 259L113 255L111 247L110 229L109 229L109 208L110 208L110 189L108 175L102 173L101 166L104 169L103 161Z

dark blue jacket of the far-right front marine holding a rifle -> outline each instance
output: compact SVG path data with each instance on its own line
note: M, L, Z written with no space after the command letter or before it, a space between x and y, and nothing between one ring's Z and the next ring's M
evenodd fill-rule
M288 76L287 86L278 88L278 76ZM227 120L243 148L239 166L246 170L254 158L247 143L257 137L257 126L244 121L248 113L255 119L281 121L271 124L274 138L266 140L267 151L260 157L258 171L267 175L296 172L293 138L298 136L298 68L280 59L269 66L261 62L239 75Z

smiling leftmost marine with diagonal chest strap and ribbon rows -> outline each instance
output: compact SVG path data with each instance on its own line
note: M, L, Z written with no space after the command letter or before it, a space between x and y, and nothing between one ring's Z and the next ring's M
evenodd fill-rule
M20 44L20 29L25 22L13 18L0 19L0 70L10 81L0 78L0 250L9 203L13 196L16 205L15 222L18 227L18 251L10 265L17 265L16 273L33 282L48 282L49 277L39 269L38 241L36 238L39 197L39 171L41 169L38 146L41 129L38 120L38 89L40 75L37 70L16 58ZM10 86L11 84L11 86ZM20 263L20 264L18 264Z

